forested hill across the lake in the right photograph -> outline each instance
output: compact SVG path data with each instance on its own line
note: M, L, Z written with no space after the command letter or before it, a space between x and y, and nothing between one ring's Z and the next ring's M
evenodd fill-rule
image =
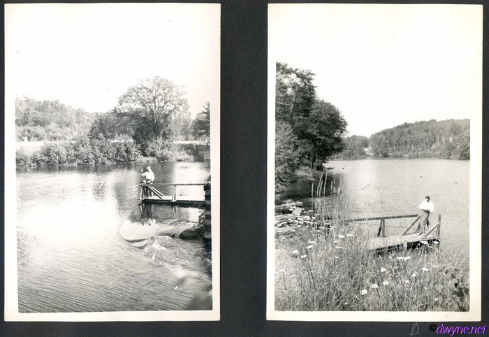
M428 120L404 123L373 134L374 157L470 158L470 120Z

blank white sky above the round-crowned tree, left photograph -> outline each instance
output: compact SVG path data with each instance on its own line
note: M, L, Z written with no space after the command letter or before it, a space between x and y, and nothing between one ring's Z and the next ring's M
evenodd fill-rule
M5 20L17 96L106 112L139 79L162 76L187 89L192 117L219 100L218 4L15 4Z

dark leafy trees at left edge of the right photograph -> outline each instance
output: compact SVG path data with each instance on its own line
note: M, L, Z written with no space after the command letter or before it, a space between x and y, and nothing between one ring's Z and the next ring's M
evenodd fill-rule
M319 99L314 73L276 64L275 185L291 182L303 163L321 167L344 148L346 121L333 104Z

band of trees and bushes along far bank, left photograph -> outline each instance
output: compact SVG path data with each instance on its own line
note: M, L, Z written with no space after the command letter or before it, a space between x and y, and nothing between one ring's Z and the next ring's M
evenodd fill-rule
M20 152L17 163L105 164L132 162L141 155L166 161L188 157L177 140L208 141L210 103L192 120L184 89L154 76L129 87L106 113L87 113L59 101L17 99L15 127L17 141L65 141L45 145L31 158Z

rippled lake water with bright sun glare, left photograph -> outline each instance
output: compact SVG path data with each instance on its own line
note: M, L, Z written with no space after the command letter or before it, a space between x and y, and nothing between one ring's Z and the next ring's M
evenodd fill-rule
M210 175L210 162L151 166L155 182ZM197 222L198 208L140 208L141 167L17 169L21 313L184 310L210 289L203 241L161 235Z

